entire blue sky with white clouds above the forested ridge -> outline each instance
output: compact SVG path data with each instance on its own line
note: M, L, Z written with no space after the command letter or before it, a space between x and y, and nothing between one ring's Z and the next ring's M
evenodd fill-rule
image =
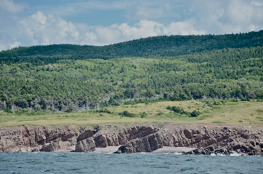
M263 0L0 0L0 51L263 29Z

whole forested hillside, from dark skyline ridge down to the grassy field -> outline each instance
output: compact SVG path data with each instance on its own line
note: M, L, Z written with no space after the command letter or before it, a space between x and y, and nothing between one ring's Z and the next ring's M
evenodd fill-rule
M0 62L0 108L7 112L71 112L146 99L263 98L263 30L19 47L0 52Z

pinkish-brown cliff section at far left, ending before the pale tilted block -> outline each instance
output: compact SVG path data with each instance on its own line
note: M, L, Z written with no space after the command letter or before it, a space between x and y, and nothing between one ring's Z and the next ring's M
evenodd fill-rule
M77 143L79 133L68 128L19 126L0 128L0 152L52 152Z

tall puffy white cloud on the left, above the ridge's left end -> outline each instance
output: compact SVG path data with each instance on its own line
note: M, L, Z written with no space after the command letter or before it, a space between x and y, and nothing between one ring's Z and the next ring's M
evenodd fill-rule
M89 26L81 23L66 22L54 15L44 15L41 11L21 20L20 27L24 37L36 45L53 43L92 44L96 39ZM87 43L86 43L87 42Z

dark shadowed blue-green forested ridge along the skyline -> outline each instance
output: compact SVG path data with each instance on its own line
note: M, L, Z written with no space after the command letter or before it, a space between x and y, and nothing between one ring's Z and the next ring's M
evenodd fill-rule
M33 65L56 63L61 59L110 59L116 56L179 56L224 48L263 46L263 30L245 34L154 36L108 46L70 44L19 47L0 52L4 64L30 62Z

